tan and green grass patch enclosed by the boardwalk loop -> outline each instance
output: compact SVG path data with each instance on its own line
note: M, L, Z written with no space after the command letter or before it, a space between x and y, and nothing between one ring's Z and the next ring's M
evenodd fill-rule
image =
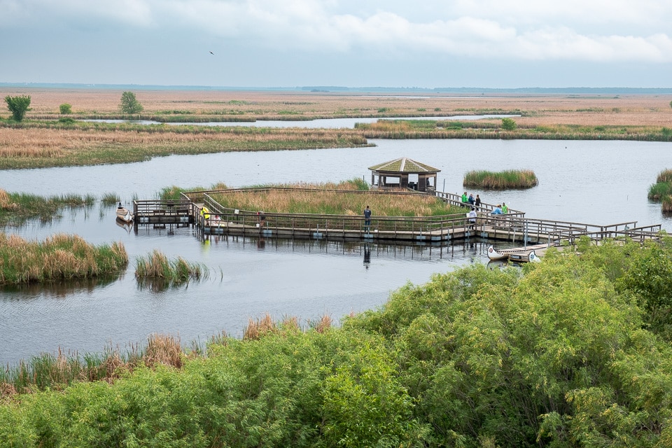
M359 193L356 183L297 185L292 188L260 188L214 193L223 207L267 213L358 216L368 205L376 216L444 216L461 214L437 197L419 194ZM340 189L340 188L348 188Z

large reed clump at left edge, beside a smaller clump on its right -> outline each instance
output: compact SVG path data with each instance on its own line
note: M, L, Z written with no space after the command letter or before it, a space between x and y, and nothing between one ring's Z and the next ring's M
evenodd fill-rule
M0 285L88 279L117 272L128 264L121 243L93 246L76 235L57 234L27 241L0 233Z

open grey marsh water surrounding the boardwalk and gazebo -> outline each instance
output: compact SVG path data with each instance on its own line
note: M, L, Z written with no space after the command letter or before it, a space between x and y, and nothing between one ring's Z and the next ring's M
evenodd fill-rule
M660 204L647 200L657 174L672 167L672 144L637 141L372 140L370 148L174 155L128 165L0 172L0 188L37 195L101 197L125 204L152 199L167 186L229 187L262 183L370 181L367 167L408 157L441 169L437 189L462 193L470 170L531 169L529 190L474 190L484 202L506 202L529 218L608 225L638 221L672 229ZM652 162L655 161L655 162ZM375 211L374 211L375 214ZM109 279L0 291L0 364L41 352L124 349L153 332L179 335L183 344L226 332L240 336L250 318L297 316L304 325L327 314L338 321L374 309L407 282L425 283L435 272L488 262L487 241L440 246L212 237L191 228L137 232L116 223L114 207L65 210L53 221L6 228L27 239L73 233L93 244L121 241L130 255L126 272ZM207 267L186 286L138 283L134 262L159 249Z

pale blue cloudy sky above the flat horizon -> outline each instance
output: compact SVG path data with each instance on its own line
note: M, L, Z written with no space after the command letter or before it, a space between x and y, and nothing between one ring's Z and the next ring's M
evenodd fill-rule
M0 83L672 87L666 0L0 0Z

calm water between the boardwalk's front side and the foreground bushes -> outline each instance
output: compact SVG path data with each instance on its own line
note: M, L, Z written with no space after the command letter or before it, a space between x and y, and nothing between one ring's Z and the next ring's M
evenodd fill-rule
M34 223L15 229L38 239L69 227L89 239L121 240L131 262L110 279L1 290L0 364L59 348L98 352L142 342L153 332L179 335L185 344L222 331L240 336L249 318L265 313L304 321L326 314L338 323L351 312L379 307L407 281L425 283L435 272L487 262L483 241L395 246L221 235L201 241L191 228L176 228L173 235L153 228L128 233L113 214L111 207L102 221L57 221L50 231ZM135 259L157 248L168 258L202 263L209 275L182 286L137 281Z

